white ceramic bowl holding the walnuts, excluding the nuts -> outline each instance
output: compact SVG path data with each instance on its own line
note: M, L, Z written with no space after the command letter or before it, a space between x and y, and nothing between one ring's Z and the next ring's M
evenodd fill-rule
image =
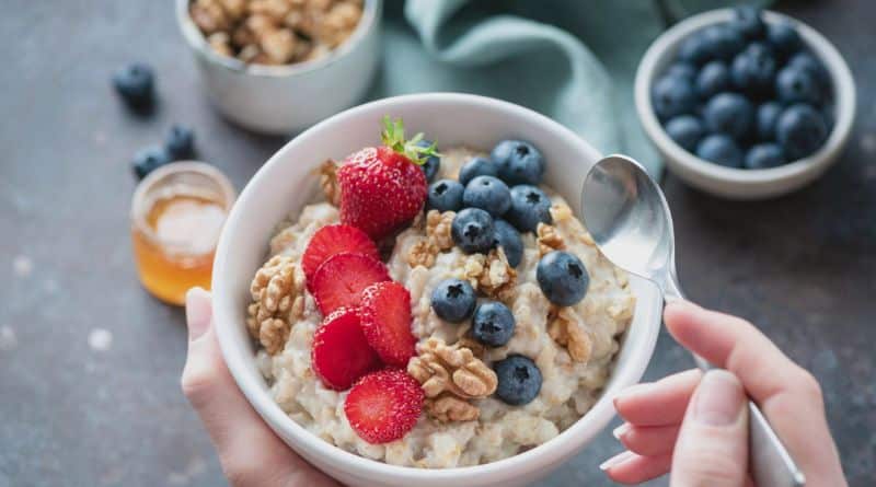
M365 96L380 59L382 0L365 0L353 35L331 54L288 66L246 65L217 54L176 0L176 21L195 54L207 95L235 124L288 135L349 108Z

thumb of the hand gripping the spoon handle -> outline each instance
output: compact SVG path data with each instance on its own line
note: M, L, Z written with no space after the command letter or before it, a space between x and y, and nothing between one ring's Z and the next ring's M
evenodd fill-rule
M672 487L741 487L748 472L748 407L742 385L725 370L696 387L672 454Z

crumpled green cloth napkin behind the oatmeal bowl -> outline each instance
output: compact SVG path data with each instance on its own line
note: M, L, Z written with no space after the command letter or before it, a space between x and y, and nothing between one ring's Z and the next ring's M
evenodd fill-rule
M454 91L508 100L659 176L662 163L633 102L638 60L669 22L735 3L388 0L383 68L370 97Z

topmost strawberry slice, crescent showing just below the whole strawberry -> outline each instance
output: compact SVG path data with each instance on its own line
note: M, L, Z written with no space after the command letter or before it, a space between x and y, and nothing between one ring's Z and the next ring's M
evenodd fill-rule
M312 283L313 275L322 263L342 252L355 252L380 260L377 245L361 230L345 224L325 225L313 234L301 257L301 268L308 278L308 285Z

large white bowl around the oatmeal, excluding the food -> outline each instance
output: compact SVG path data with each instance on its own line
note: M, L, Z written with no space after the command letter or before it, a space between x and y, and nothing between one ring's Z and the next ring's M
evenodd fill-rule
M341 450L292 421L270 398L254 361L244 325L250 280L261 266L268 237L290 211L314 194L313 169L326 158L342 159L379 143L383 115L402 117L410 131L424 131L443 147L491 148L505 138L532 141L548 161L546 183L579 206L584 176L600 154L575 134L535 112L493 98L465 94L418 94L369 103L338 114L287 143L253 176L231 210L214 264L215 323L226 362L262 418L295 451L351 486L517 486L546 475L576 454L611 420L611 398L645 371L660 328L662 300L648 281L631 276L637 298L602 397L580 420L548 443L486 465L418 469L393 466ZM596 459L593 459L596 462Z

